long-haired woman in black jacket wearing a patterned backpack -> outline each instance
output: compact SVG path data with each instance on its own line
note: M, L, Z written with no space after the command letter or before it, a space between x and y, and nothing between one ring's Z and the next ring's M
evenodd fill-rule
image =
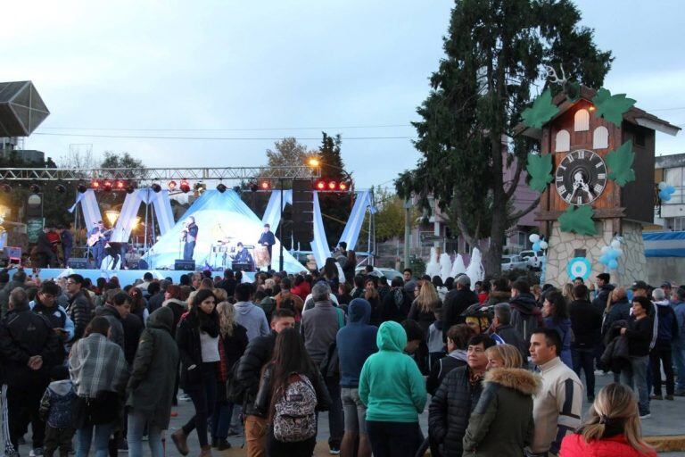
M310 457L317 444L317 416L331 397L321 373L294 328L276 337L271 361L262 370L255 409L268 416L269 457Z

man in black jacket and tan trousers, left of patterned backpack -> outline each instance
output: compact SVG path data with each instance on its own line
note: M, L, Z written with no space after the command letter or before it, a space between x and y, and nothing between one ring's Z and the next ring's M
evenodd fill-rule
M267 418L259 415L254 400L260 390L261 368L271 359L276 345L276 335L285 328L295 327L295 314L287 309L276 310L271 316L271 333L255 337L245 349L238 362L235 381L243 389L243 414L245 415L245 442L247 455L265 456L267 453Z

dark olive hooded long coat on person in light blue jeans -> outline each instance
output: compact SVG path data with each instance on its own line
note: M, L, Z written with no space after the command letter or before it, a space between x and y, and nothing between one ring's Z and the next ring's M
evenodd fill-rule
M171 337L173 321L174 314L166 307L150 314L127 387L127 406L162 429L169 428L178 366L178 347Z

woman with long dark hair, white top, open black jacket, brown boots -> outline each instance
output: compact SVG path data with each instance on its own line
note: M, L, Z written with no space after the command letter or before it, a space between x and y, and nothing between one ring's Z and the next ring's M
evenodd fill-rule
M217 368L219 355L219 314L216 297L209 289L197 291L190 312L178 323L176 343L181 358L181 387L193 400L195 414L171 438L179 453L187 455L187 438L197 429L202 448L201 457L211 455L207 437L207 421L217 398Z

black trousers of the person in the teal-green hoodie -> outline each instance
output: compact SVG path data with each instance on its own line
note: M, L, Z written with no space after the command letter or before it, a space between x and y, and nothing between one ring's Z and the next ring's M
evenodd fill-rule
M374 457L414 457L422 442L418 422L367 420Z

